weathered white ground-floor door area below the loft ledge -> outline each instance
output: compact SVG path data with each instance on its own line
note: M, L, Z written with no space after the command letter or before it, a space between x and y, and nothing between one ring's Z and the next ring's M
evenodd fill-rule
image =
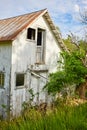
M38 75L47 77L47 72L39 72ZM38 75L31 74L30 88L33 90L33 94L35 95L32 103L34 105L47 102L47 93L43 90L43 86L46 84L47 80Z

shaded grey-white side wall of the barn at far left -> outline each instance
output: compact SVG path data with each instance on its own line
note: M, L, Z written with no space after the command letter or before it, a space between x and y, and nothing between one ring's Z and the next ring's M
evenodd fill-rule
M4 87L0 88L0 114L4 117L9 109L11 54L11 42L0 42L0 72L4 72L5 79Z

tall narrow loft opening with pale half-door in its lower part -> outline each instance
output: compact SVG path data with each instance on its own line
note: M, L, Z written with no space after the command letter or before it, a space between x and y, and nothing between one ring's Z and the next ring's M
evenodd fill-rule
M44 50L45 50L45 38L46 32L43 29L38 28L37 30L37 51L36 51L36 62L44 62Z

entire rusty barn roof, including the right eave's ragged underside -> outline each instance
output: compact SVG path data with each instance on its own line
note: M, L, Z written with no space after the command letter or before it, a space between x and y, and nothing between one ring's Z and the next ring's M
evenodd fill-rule
M62 41L61 34L53 24L47 9L0 20L0 41L14 40L23 29L32 24L34 20L41 15L47 20L60 47L67 51L67 48Z

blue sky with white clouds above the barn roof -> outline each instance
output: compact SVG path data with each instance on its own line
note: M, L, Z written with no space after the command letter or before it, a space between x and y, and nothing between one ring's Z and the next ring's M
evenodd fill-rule
M0 0L0 19L45 8L63 38L70 32L82 36L84 25L80 22L80 12L87 10L87 0Z

